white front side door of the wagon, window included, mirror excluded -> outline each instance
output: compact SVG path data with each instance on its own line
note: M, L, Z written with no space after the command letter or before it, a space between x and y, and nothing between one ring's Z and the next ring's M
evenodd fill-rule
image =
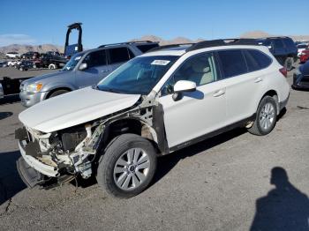
M196 84L196 91L172 99L172 89L179 80ZM169 147L189 142L226 125L225 83L220 80L212 52L188 58L162 88L159 101L164 110L164 123Z

